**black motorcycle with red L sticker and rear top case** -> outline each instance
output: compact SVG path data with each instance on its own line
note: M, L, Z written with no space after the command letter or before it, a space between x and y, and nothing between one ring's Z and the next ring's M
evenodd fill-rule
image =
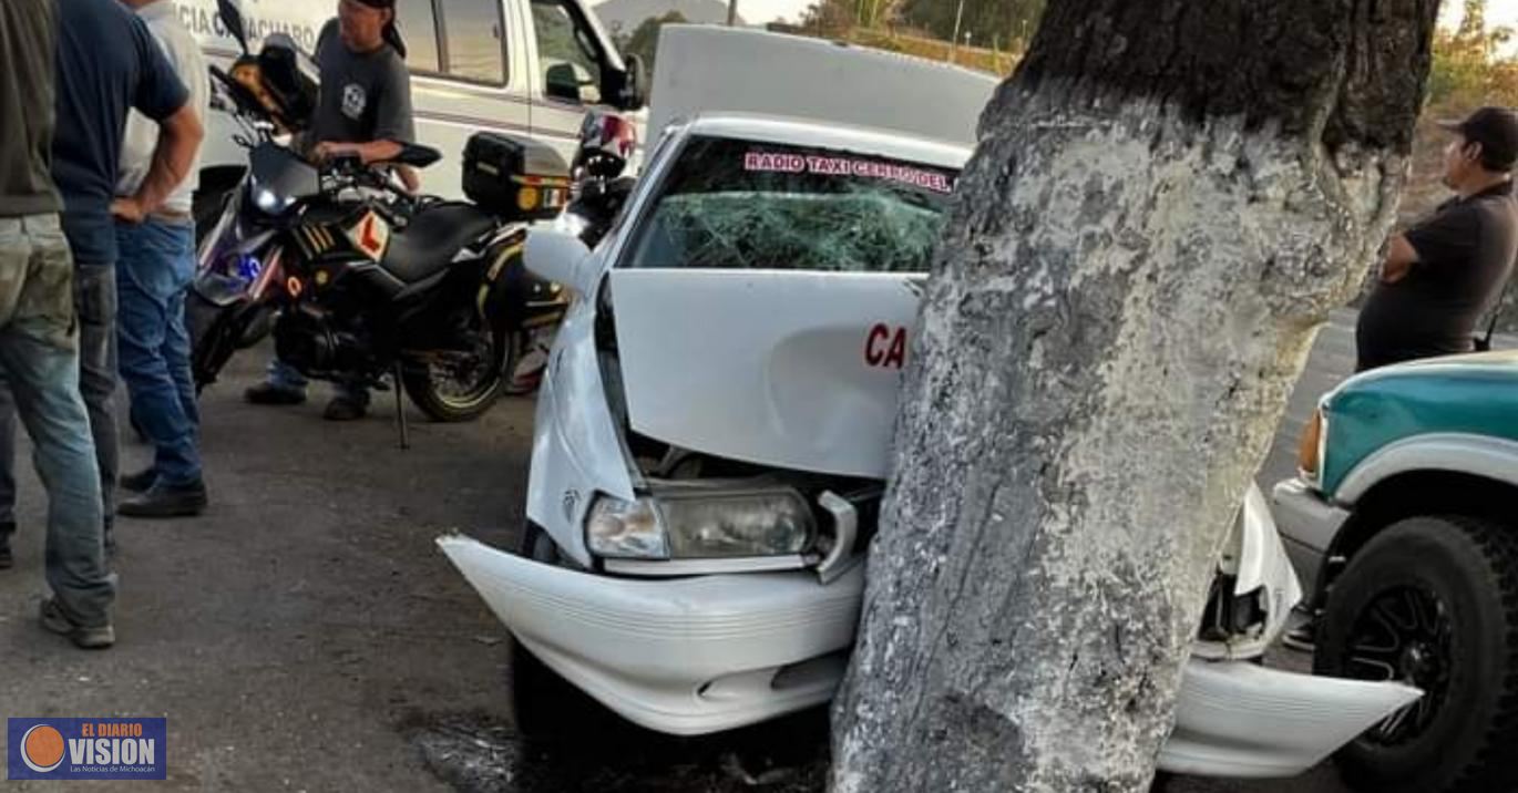
M222 3L222 14L243 41L235 8ZM308 378L404 387L434 420L477 418L568 306L563 290L527 273L521 250L528 223L566 206L569 168L543 144L495 133L466 147L471 202L405 194L389 167L440 159L422 146L389 164L317 168L276 143L307 82L304 61L270 45L288 47L272 39L232 74L213 70L243 123L249 171L200 246L187 308L197 385L272 334L279 358ZM249 62L258 68L240 73Z

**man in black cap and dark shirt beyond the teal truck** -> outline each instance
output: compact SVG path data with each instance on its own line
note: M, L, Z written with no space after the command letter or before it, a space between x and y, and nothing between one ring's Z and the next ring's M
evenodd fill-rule
M1392 238L1356 329L1360 371L1471 352L1518 258L1518 117L1483 108L1442 126L1454 132L1444 183L1456 197Z

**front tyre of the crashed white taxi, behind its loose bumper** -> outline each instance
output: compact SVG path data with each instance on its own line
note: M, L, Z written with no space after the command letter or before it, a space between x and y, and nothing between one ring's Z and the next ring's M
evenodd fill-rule
M527 525L518 555L543 564L562 563L559 546L534 523ZM597 729L616 722L612 711L548 669L515 635L510 638L509 664L512 720L524 740L557 743L584 735L587 728Z

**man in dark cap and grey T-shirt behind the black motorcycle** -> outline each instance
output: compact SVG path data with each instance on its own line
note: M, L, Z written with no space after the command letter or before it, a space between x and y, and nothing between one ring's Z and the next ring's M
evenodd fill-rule
M386 162L416 139L411 120L411 76L405 70L405 44L395 27L395 0L342 0L337 20L322 29L316 44L322 70L322 94L308 139L313 159L358 155L367 162ZM414 174L401 170L410 190ZM255 405L299 405L307 381L282 361L269 364L264 382L244 393ZM369 409L369 391L360 384L340 384L323 414L332 422L361 418Z

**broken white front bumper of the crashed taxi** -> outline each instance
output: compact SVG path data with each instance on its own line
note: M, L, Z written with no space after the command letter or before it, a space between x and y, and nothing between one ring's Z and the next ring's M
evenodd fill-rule
M827 702L864 593L864 566L826 587L805 572L628 581L465 537L437 543L543 663L625 719L677 735ZM1401 685L1193 660L1160 767L1292 776L1416 697Z

